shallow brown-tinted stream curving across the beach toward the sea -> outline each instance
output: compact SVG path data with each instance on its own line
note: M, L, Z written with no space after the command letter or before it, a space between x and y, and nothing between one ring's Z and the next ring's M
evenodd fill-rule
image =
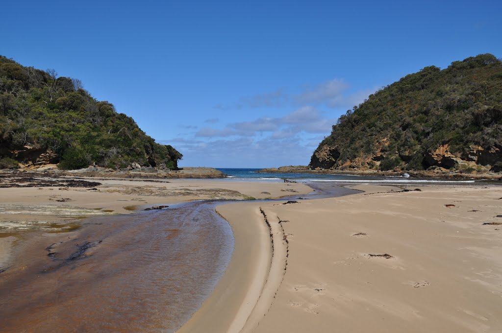
M311 187L309 195L281 200L356 193L331 183ZM0 273L0 331L175 331L231 258L231 228L215 212L231 202L93 217L76 233L34 233Z

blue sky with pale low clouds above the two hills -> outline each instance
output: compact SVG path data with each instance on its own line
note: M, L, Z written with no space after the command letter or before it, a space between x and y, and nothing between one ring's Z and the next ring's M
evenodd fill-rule
M502 57L500 1L24 1L0 54L79 78L180 165L307 164L339 115L429 65Z

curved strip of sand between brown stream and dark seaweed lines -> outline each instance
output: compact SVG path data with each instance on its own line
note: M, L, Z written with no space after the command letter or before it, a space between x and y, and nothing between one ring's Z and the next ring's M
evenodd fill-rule
M354 189L360 192L352 195L399 189L373 187ZM262 209L264 204L270 202L230 203L216 208L234 234L232 257L215 289L178 333L250 332L266 315L286 273L289 246L283 221L275 214L268 216Z

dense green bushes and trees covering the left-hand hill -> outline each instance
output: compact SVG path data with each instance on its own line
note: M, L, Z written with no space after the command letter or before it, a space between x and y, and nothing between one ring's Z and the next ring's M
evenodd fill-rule
M133 118L117 113L113 104L90 96L80 80L58 77L54 70L24 67L3 56L0 146L0 157L21 162L24 157L17 156L16 150L51 150L59 167L66 170L93 163L126 168L133 162L177 169L182 157L172 146L156 143ZM6 158L2 161L13 165Z

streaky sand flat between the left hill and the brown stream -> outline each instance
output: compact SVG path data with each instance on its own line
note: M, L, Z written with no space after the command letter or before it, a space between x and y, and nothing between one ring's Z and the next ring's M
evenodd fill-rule
M82 179L82 178L80 178ZM32 230L69 231L82 217L131 214L152 205L190 200L278 198L306 194L299 183L259 183L229 180L115 180L84 178L102 185L94 190L72 187L0 188L0 270L17 241Z

